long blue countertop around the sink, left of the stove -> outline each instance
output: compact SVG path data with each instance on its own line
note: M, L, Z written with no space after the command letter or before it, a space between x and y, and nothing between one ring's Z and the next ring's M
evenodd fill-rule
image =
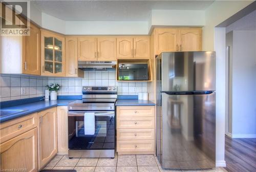
M0 122L5 122L11 119L22 117L25 115L32 114L34 112L39 112L42 110L49 109L50 107L56 107L61 105L68 105L69 102L75 101L75 99L59 99L59 100L49 100L49 101L36 101L31 103L19 104L9 107L1 108L1 110L25 110L24 112L19 112L13 115L8 115L0 118Z

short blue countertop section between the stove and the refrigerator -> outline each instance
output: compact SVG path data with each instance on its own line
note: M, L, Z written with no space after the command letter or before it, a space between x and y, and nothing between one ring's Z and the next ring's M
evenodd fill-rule
M136 106L136 105L155 105L150 100L138 100L138 99L117 99L116 106Z

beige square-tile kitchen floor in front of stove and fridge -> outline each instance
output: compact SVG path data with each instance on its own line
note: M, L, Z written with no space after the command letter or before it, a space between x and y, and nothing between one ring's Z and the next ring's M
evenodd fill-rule
M73 158L56 155L44 169L75 169L77 172L181 172L162 169L153 155L116 155L111 158ZM226 172L224 168L182 170L187 172Z

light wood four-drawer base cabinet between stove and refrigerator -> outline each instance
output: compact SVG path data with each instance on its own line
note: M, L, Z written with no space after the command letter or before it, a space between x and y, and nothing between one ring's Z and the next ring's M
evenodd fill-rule
M118 155L155 153L154 106L117 106Z

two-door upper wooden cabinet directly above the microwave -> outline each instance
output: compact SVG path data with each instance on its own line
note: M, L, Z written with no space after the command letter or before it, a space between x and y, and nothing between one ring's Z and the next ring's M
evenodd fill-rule
M149 58L150 37L118 37L117 58Z

